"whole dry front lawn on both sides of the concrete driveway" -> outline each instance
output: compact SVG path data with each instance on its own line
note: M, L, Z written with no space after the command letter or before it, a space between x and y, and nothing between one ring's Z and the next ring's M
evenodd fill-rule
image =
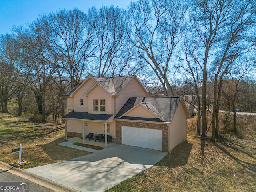
M65 142L64 125L33 123L0 113L0 161L18 160L12 148L22 144L22 159L31 168L90 154L57 145ZM208 140L188 136L160 162L124 180L108 192L255 192L256 141Z

